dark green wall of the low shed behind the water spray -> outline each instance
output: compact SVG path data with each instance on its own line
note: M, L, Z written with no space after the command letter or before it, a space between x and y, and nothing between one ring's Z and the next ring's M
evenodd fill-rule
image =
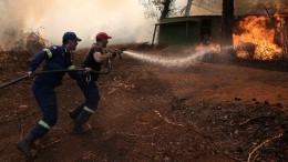
M220 17L178 17L161 20L158 43L195 44L206 38L213 42L220 40Z

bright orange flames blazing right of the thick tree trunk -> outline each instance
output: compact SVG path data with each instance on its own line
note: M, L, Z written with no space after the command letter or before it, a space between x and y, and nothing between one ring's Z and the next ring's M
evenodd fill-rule
M279 17L276 17L279 19ZM240 47L244 43L255 44L254 55L249 52L239 50L239 58L249 58L257 60L270 60L281 55L282 49L275 43L275 29L279 29L279 24L274 24L271 29L267 27L267 18L248 16L239 22L239 28L244 32L241 34L233 34L235 47Z

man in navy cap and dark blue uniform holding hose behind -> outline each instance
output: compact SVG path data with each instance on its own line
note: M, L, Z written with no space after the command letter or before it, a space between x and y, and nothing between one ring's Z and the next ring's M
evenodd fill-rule
M33 54L28 68L28 75L32 77L35 69L45 60L42 71L74 69L71 51L76 49L81 41L74 32L65 32L62 38L62 45L52 45ZM31 148L33 141L43 136L58 121L56 95L54 88L60 85L65 72L48 73L37 75L32 91L41 109L42 119L31 129L31 131L17 143L18 148L29 158L32 158ZM76 79L78 73L69 72Z

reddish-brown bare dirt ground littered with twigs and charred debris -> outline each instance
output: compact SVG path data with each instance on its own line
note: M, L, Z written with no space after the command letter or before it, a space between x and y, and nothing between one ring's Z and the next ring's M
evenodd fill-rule
M24 60L2 61L0 83L23 75ZM65 77L56 88L59 122L38 141L33 161L288 161L287 72L247 63L174 69L123 54L101 75L91 131L78 136L68 110L83 97ZM29 161L16 143L41 118L30 87L0 90L0 161Z

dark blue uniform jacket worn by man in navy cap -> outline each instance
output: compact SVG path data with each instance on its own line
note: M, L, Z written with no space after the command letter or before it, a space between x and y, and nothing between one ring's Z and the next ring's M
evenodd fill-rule
M43 64L42 71L74 69L70 51L64 45L52 45L49 49L43 49L33 54L28 71L34 72L44 60L45 63ZM65 72L40 74L35 77L34 82L54 88L62 83L64 74ZM74 72L70 73L72 78L75 78L75 74Z

